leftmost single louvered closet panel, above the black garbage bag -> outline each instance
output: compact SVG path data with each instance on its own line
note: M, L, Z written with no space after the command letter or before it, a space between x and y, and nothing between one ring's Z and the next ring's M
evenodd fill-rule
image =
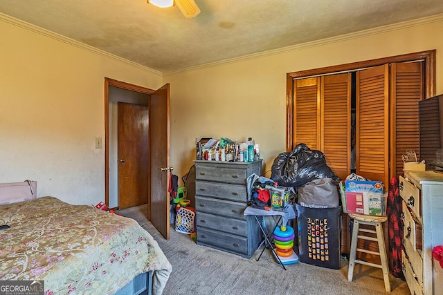
M293 147L320 148L320 77L293 82Z

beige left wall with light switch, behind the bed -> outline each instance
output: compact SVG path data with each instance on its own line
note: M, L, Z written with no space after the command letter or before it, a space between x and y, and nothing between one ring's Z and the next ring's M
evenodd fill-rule
M20 24L19 24L20 25ZM105 77L159 88L161 73L0 19L0 182L38 196L105 200Z

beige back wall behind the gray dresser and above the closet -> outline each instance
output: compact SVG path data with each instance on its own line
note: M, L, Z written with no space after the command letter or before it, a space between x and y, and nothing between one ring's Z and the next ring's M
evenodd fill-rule
M171 163L184 175L195 137L260 143L264 173L286 146L286 74L380 57L437 50L436 94L443 93L443 15L316 41L269 54L165 75L171 84Z

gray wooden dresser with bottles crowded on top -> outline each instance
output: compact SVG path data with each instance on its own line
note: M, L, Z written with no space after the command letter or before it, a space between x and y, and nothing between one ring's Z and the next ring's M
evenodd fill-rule
M195 161L197 245L251 258L262 238L255 218L243 215L246 178L261 170L262 160Z

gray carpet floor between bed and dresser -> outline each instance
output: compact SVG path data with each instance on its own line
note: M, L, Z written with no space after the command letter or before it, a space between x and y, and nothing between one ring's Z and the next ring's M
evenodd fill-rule
M172 264L172 274L163 294L410 294L404 280L390 276L392 292L386 292L381 269L356 265L352 282L347 281L347 261L341 259L340 269L327 269L306 263L286 265L285 271L275 263L271 250L262 248L250 259L200 246L188 234L170 227L165 240L147 220L147 207L119 211L134 218L159 242ZM263 246L262 246L263 247Z

